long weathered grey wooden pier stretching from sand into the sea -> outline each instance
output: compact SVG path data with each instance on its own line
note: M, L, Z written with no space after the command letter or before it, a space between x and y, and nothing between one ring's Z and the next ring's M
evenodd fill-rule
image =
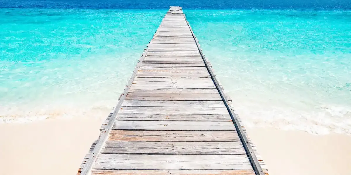
M165 15L78 174L267 174L181 7Z

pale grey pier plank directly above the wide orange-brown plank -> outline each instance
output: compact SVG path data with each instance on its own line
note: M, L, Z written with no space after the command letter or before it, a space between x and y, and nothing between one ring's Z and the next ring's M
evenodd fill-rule
M235 130L233 122L212 121L115 121L112 129L119 130L172 130L212 131Z

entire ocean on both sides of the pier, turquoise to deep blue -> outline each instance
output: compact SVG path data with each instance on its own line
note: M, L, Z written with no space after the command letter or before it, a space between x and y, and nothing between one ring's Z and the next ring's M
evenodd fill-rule
M0 0L0 123L106 118L170 5L246 127L351 134L350 1Z

